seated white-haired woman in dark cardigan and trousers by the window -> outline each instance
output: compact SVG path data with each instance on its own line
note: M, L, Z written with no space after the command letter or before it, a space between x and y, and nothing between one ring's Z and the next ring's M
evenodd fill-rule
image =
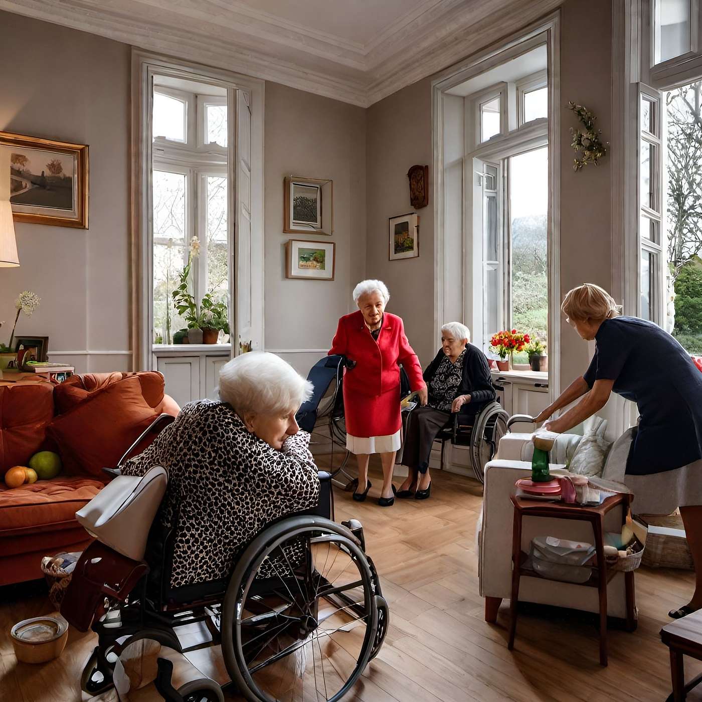
M493 420L487 418L488 424L492 421L493 429L495 420L499 419L501 423L505 420L505 413L495 404L495 389L487 359L470 343L468 327L461 322L449 322L442 326L441 331L442 347L423 374L429 391L428 402L413 409L406 421L400 463L409 468L409 475L400 486L398 498L425 500L430 496L432 444L452 422L457 427L460 419L472 429L477 425L477 416L485 409L489 409L487 414L494 416ZM454 430L453 437L455 433ZM475 437L478 453L478 442L486 441L485 430L479 433L480 436ZM478 463L482 463L479 456L477 458ZM475 465L475 457L473 462L476 475L479 475L482 466Z

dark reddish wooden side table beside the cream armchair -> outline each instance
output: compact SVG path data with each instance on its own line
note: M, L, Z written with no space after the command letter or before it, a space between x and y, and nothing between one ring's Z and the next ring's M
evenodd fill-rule
M512 495L512 504L515 506L514 525L512 528L512 600L510 600L510 639L508 649L515 645L517 631L517 602L519 600L519 579L522 576L543 578L531 569L528 564L529 556L522 551L522 517L550 517L551 519L578 519L590 522L592 533L595 536L595 566L592 567L592 576L581 587L597 588L600 595L600 663L607 665L607 583L614 578L618 571L607 569L604 560L604 515L617 505L623 505L623 517L626 519L630 496L616 494L608 497L597 507L584 507L564 502L542 502L529 500L524 497ZM629 631L636 627L635 623L635 595L634 573L628 571L624 574L626 591L626 624ZM551 580L555 578L543 578Z

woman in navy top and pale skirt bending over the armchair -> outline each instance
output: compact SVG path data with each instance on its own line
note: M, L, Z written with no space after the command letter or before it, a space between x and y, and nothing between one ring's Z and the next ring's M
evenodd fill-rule
M690 614L702 607L702 373L659 326L619 317L614 299L597 285L571 290L561 308L583 339L595 339L595 356L585 375L536 421L581 395L545 428L566 432L602 409L613 391L637 404L640 418L624 482L638 514L669 515L680 507L696 584L689 604L670 616Z

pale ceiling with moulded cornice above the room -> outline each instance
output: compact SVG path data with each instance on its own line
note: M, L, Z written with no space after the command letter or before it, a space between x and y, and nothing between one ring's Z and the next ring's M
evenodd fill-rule
M562 0L0 0L0 10L368 107Z

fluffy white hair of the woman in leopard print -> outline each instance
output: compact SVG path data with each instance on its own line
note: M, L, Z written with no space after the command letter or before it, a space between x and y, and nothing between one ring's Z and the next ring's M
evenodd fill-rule
M250 351L225 363L220 370L219 396L239 416L297 410L312 396L312 383L281 357Z

